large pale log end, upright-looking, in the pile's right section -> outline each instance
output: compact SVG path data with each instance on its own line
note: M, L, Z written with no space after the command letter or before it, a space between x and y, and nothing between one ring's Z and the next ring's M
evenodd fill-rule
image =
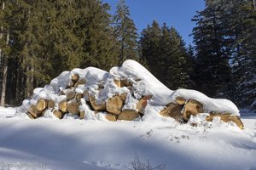
M198 113L203 113L203 105L195 99L189 99L183 108L183 119L189 121L191 115L195 116Z

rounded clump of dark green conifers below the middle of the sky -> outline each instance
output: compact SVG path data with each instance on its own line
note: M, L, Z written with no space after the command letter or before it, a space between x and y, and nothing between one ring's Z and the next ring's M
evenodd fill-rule
M168 88L191 88L189 54L176 29L164 24L161 28L154 20L143 30L140 40L142 56L149 70Z

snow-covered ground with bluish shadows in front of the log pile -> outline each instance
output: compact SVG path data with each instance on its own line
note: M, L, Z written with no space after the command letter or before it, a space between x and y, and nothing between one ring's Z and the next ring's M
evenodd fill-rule
M0 108L0 169L128 169L139 157L169 169L256 169L256 114L228 123L180 125L14 116Z

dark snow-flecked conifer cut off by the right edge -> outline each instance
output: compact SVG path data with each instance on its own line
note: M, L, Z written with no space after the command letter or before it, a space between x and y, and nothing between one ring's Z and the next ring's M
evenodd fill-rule
M233 49L233 98L241 107L256 110L256 9L252 1L233 2L230 6L234 31L230 34ZM228 14L227 14L228 15Z

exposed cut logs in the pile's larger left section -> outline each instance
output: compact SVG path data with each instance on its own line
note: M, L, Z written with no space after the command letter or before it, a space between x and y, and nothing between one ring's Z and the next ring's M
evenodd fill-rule
M131 88L131 82L125 80L114 80L118 88L127 87ZM98 103L95 99L95 96L90 95L88 91L84 91L83 94L76 92L76 88L79 84L84 84L83 79L79 79L79 75L73 75L71 81L68 83L67 88L63 91L60 91L59 95L66 95L66 99L62 100L60 103L55 104L55 101L52 99L38 99L36 105L31 105L27 111L27 115L32 118L38 118L39 116L44 116L46 111L51 110L57 118L63 118L67 113L72 115L79 115L81 119L84 119L84 111L79 111L79 106L82 105L80 100L82 98L87 99L87 104L90 105L90 110L98 112L105 112L105 117L109 121L117 120L126 120L131 121L144 114L144 108L148 103L148 99L151 99L152 96L143 96L141 99L138 99L136 110L124 110L123 106L125 105L125 99L127 94L116 94L112 98L108 99L107 102ZM99 89L103 88L102 85L99 85Z

